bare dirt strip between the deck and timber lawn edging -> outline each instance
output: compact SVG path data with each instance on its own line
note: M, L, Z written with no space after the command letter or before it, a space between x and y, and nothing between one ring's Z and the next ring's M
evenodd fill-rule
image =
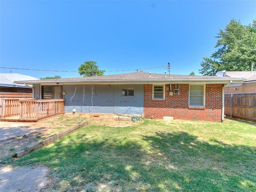
M113 115L88 115L88 114L65 114L61 117L50 118L35 122L32 124L34 130L29 134L12 137L6 141L0 142L0 163L3 165L6 157L11 158L12 155L24 150L27 146L34 144L38 140L47 138L53 134L58 134L63 130L70 128L84 120L88 120L88 125L103 126L131 126L134 124L130 119L118 120L118 116ZM15 126L15 122L10 122ZM24 123L27 126L29 123ZM40 128L40 129L38 129ZM0 165L1 166L1 165Z

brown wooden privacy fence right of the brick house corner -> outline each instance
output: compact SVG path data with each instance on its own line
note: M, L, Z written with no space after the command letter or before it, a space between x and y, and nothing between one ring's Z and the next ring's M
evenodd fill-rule
M224 114L256 122L256 93L225 94Z

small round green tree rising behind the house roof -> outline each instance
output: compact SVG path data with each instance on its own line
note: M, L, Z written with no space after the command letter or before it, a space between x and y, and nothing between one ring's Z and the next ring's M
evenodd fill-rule
M84 75L84 77L102 76L105 71L99 70L98 67L95 61L86 61L78 68L78 72L80 75Z

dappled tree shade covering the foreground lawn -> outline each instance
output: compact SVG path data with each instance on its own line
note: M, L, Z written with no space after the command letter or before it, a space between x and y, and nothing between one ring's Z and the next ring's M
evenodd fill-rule
M65 191L255 191L256 153L186 132L107 138L76 132L19 160L42 162Z

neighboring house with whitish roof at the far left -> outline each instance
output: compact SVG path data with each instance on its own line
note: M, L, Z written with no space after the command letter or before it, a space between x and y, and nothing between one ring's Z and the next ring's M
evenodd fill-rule
M32 88L23 84L16 84L14 81L38 80L32 76L17 73L0 73L0 92L32 93Z

